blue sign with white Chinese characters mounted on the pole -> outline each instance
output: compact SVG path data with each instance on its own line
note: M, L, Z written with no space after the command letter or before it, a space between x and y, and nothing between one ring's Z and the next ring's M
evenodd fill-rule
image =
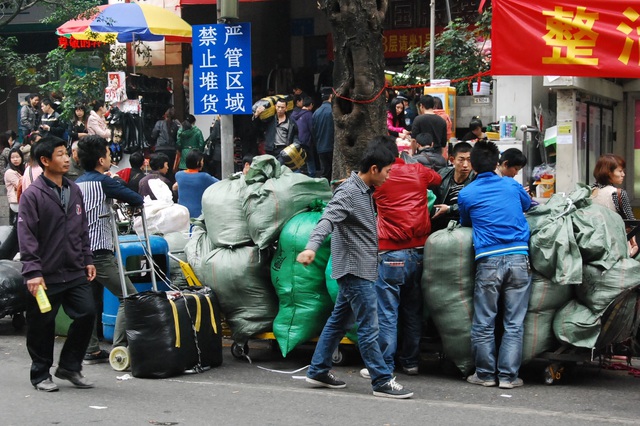
M251 24L193 26L196 114L251 113Z

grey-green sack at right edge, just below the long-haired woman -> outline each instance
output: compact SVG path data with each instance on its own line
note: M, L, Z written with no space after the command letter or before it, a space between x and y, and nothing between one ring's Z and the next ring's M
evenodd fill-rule
M640 262L630 258L621 259L608 271L584 265L582 277L582 284L576 289L577 299L599 314L619 294L640 284Z

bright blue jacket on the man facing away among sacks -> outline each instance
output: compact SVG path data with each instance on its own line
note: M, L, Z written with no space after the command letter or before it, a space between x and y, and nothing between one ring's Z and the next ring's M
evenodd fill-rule
M460 191L458 207L460 223L473 226L476 260L529 253L524 212L531 207L531 197L514 179L481 173Z

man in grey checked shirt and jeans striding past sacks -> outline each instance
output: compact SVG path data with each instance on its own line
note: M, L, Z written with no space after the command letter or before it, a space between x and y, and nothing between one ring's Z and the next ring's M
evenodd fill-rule
M331 236L332 278L339 284L336 304L320 334L306 381L316 386L341 389L331 369L331 355L340 340L358 323L358 346L371 375L375 396L410 398L413 393L395 381L378 344L375 281L378 277L378 233L373 188L384 183L395 158L379 143L367 147L359 172L338 187L322 218L309 237L298 262L309 265L324 239Z

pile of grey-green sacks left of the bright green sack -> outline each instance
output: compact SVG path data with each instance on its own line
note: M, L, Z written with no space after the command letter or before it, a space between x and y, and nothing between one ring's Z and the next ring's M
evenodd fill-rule
M272 328L283 336L274 326L278 294L282 305L284 290L272 284L273 246L279 239L287 240L281 232L289 220L307 212L314 200L326 202L331 195L325 179L293 173L270 155L254 158L246 176L231 176L203 194L203 221L194 224L185 254L198 279L217 294L236 343L243 345ZM305 231L307 238L311 229ZM291 261L291 254L285 251L278 248L280 268L285 258ZM324 266L321 268L324 272ZM291 269L282 275L298 280ZM283 277L277 281L284 282ZM284 340L278 341L282 347Z

